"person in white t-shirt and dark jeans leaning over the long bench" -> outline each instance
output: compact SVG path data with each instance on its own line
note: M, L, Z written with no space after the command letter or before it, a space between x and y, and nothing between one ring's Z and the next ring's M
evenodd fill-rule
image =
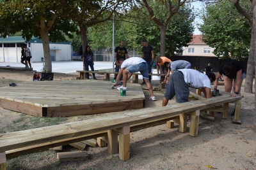
M209 98L211 94L211 83L215 81L214 73L201 73L195 69L177 69L173 72L166 87L163 106L168 104L168 101L176 96L177 103L188 102L189 87L198 89L201 88L204 95Z

